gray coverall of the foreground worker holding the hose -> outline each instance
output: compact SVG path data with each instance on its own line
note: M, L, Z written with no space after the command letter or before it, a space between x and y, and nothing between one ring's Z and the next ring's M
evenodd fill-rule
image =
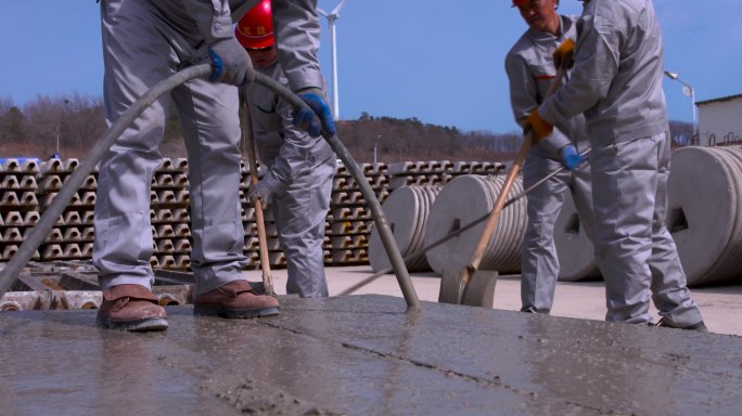
M234 36L230 6L242 1L101 1L104 106L114 122L137 99L179 68L206 58L206 47ZM317 1L283 0L273 6L291 87L320 87L315 48ZM316 32L314 31L316 30ZM278 38L278 37L277 37ZM297 50L300 49L300 52ZM150 183L170 106L180 116L189 155L191 269L195 294L244 278L240 214L240 123L236 87L195 79L154 102L121 134L99 168L93 263L101 288L150 288L152 233Z

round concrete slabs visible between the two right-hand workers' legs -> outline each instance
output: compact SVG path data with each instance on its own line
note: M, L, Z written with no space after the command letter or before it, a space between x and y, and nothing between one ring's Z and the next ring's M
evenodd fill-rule
M563 282L589 281L601 277L596 263L594 246L585 233L581 219L568 191L554 223L554 244L559 258L559 280Z

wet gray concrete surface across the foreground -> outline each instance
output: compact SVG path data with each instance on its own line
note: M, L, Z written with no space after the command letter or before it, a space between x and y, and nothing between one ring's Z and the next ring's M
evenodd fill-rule
M170 328L0 313L0 414L738 415L742 338L423 302L281 297Z

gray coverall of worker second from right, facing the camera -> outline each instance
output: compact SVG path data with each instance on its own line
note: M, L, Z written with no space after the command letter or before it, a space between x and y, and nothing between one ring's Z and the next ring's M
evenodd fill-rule
M559 81L551 55L566 39L576 39L575 20L560 16L559 36L529 28L508 52L506 72L510 80L510 103L519 125L524 126L528 114L546 98L550 84ZM559 152L568 144L574 144L578 152L587 148L585 117L581 114L556 120L553 133L530 148L523 166L523 186L528 187L559 169L562 166ZM521 261L522 311L551 311L559 277L554 223L567 190L575 202L580 225L592 238L589 164L584 162L574 171L565 169L526 195L528 225Z

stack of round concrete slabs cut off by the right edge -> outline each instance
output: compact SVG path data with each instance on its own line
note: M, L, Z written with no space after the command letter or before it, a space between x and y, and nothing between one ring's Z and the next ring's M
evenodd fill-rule
M671 167L666 223L688 285L742 282L742 147L685 147Z

